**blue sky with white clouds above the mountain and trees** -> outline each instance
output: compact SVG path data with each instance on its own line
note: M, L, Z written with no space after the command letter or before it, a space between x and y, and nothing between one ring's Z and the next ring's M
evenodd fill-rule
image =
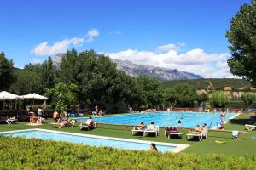
M225 32L243 3L250 0L1 0L0 51L18 68L75 48L234 77Z

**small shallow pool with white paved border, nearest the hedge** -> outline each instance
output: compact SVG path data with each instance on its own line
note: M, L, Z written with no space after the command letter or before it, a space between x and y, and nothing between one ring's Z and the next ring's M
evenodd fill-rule
M90 146L108 146L123 150L149 150L149 141L133 140L133 139L117 139L96 135L87 135L79 133L64 133L52 130L29 129L0 133L1 136L25 137L27 139L49 139L55 141L66 141L76 144L84 144ZM188 144L168 144L154 142L160 152L172 151L179 152L189 147Z

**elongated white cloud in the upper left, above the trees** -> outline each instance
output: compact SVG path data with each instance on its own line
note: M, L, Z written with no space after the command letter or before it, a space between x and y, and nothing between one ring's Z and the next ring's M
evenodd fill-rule
M99 31L96 29L91 29L87 32L87 39L85 42L92 42L94 41L94 37L99 36ZM53 42L52 45L49 45L48 42L42 42L38 44L35 48L33 48L30 52L36 55L52 55L58 53L65 53L67 52L68 48L70 47L79 47L82 46L84 42L84 37L73 37L73 38L65 38L62 41Z

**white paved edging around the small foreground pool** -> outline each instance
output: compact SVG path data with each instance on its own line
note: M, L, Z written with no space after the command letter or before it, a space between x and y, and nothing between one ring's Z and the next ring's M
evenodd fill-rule
M142 141L142 140L136 140L136 139L121 139L121 138L113 138L113 137L104 137L104 136L98 136L98 135L92 135L92 134L81 134L81 133L67 133L67 132L60 132L55 130L46 130L41 128L31 128L31 129L25 129L25 130L15 130L15 131L7 131L7 132L1 132L1 134L5 133L19 133L19 132L26 132L26 131L42 131L42 132L49 132L49 133L61 133L61 134L68 134L73 136L84 136L89 138L96 138L96 139L110 139L110 140L116 140L116 141L125 141L125 142L133 142L133 143L140 143L140 144L151 144L154 143L156 145L165 145L165 146L174 146L170 152L177 153L182 150L185 150L190 145L189 144L172 144L172 143L164 143L164 142L154 142L154 141Z

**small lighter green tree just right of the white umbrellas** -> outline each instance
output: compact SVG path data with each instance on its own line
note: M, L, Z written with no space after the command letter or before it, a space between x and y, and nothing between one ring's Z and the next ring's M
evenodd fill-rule
M78 103L77 94L79 88L75 84L58 83L55 88L47 90L47 94L53 96L55 109L66 111L68 105L76 105Z

